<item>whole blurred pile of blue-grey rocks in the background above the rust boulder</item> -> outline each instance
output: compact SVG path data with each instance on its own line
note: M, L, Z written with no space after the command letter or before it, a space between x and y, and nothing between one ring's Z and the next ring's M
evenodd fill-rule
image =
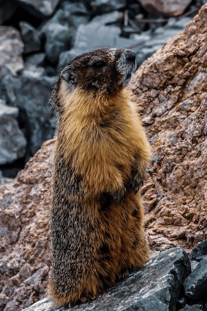
M55 132L48 100L70 57L132 48L140 65L205 0L0 0L0 180L9 182Z

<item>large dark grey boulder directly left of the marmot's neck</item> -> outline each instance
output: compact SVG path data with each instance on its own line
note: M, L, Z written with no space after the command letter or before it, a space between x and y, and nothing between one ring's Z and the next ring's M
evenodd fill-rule
M27 159L54 135L54 113L48 100L55 80L41 76L39 71L25 70L19 78L8 75L1 81L0 93L6 103L19 109L19 121L28 141Z

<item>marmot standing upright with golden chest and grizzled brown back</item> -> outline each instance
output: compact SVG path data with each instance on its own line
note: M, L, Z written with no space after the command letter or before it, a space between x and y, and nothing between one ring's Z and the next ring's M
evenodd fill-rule
M150 149L125 89L135 69L133 51L100 48L72 58L54 86L48 293L58 306L93 299L148 259L139 188Z

